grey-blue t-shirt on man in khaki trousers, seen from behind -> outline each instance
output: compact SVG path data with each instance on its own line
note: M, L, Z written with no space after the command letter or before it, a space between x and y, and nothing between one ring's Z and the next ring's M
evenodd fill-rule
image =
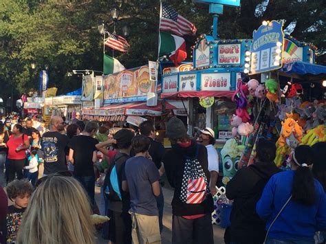
M131 212L158 216L156 199L152 186L160 179L155 164L145 157L131 157L127 160L122 180L129 186Z

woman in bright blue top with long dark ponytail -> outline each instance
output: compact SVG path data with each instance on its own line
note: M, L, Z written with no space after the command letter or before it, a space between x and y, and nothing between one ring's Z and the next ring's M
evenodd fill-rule
M292 170L273 175L265 186L256 210L267 222L266 244L314 244L315 232L326 230L325 192L308 167L313 154L309 146L296 147Z

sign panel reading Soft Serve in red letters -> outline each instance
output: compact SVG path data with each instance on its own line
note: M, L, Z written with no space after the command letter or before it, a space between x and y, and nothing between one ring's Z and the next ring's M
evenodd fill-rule
M241 59L241 44L219 45L220 64L239 64Z

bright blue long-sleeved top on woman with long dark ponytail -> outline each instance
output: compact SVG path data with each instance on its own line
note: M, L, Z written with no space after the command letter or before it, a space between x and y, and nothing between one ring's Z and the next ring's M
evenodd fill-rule
M267 221L266 229L289 199L294 171L287 170L273 175L263 190L256 210L261 219ZM317 230L326 230L326 198L323 186L315 179L316 202L305 206L290 200L276 219L268 238L281 241L314 240Z

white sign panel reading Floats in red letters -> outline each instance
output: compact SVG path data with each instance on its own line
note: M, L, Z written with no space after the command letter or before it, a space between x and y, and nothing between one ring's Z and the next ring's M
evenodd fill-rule
M202 74L202 91L229 91L230 85L230 73Z

